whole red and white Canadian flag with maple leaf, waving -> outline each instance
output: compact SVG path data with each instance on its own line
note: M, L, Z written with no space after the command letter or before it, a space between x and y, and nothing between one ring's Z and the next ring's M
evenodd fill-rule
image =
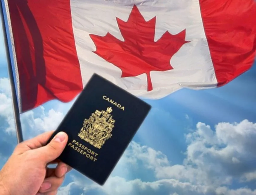
M156 99L223 86L255 59L254 0L5 0L5 7L21 112L71 101L93 73Z

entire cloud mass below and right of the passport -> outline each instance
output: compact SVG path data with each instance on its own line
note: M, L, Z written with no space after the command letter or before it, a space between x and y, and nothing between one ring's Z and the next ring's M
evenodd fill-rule
M186 135L188 142L183 164L172 165L167 156L134 141L130 143L116 166L123 163L139 170L151 170L155 181L140 179L126 180L111 175L104 186L95 183L84 188L90 194L170 194L170 195L256 195L247 187L230 189L234 179L241 182L256 180L256 155L252 141L256 135L256 124L248 120L240 123L219 123L212 130L204 123L197 123L197 129ZM253 161L252 161L253 160ZM247 165L246 168L244 166ZM132 169L130 171L133 171ZM78 184L83 186L83 184ZM95 192L95 193L93 193Z

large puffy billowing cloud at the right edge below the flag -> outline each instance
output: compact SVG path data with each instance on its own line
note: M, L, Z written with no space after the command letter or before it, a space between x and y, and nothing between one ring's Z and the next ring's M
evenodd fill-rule
M231 182L243 174L256 170L256 123L219 123L212 131L204 123L197 124L197 131L187 135L189 143L186 163L207 173L209 182Z

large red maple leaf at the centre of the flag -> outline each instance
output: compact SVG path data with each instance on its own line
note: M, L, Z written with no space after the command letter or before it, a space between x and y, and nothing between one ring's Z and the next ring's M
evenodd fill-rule
M156 16L145 21L136 5L129 15L128 21L116 18L124 41L110 33L105 36L90 34L96 45L96 53L106 61L122 70L121 77L147 74L147 90L153 89L150 71L173 69L172 56L189 41L185 41L185 30L172 35L166 31L158 41L154 41Z

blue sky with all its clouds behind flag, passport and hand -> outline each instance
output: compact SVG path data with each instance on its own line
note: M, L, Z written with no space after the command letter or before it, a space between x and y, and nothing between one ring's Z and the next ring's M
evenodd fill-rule
M182 89L159 100L104 186L76 170L59 195L256 195L256 63L225 86ZM23 137L54 130L70 103L52 100L21 115ZM16 146L0 33L0 168Z

